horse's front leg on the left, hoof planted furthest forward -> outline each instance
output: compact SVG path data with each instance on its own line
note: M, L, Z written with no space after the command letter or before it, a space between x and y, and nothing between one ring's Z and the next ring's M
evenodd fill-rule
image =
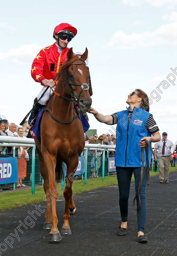
M56 168L56 159L53 158L50 154L44 154L44 165L49 178L49 198L52 208L51 224L52 229L50 231L51 242L60 241L61 235L57 228L58 218L56 216L56 199L58 197L58 190L56 189L55 183L55 168Z

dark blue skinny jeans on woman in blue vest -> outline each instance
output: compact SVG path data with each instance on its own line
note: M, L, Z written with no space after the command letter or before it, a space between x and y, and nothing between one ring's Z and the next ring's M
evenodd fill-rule
M121 218L123 222L128 220L128 198L130 194L131 177L134 174L135 180L135 194L138 192L138 184L140 180L141 167L117 167L117 181L119 186L119 206L121 211ZM146 221L146 183L147 183L147 170L143 177L143 183L140 190L141 207L137 210L138 231L144 232ZM139 198L136 198L137 207Z

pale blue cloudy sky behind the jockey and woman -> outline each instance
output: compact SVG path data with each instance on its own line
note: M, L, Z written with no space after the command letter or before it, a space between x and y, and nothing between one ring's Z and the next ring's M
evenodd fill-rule
M1 2L0 115L19 125L32 108L42 88L31 77L32 61L54 43L54 27L63 22L78 31L68 47L75 53L88 48L92 106L104 115L124 110L128 94L140 88L151 98L160 133L175 143L176 0ZM98 136L110 133L112 126L89 118Z

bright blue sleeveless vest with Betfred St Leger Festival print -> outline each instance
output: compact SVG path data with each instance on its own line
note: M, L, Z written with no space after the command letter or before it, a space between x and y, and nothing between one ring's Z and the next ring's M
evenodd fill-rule
M151 114L141 106L134 107L128 126L129 108L117 112L115 166L141 167L141 147L138 143L143 137L151 136L151 133L145 130L146 121ZM149 165L150 162L151 151L149 150Z

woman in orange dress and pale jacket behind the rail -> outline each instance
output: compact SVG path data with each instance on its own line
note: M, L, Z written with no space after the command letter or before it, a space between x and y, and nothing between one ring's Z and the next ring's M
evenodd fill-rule
M23 136L23 128L19 127L18 130L18 136L17 137L24 137ZM25 184L22 184L22 179L25 179L26 177L26 160L29 160L29 155L27 152L28 147L17 147L18 148L18 180L16 184L16 188L19 187L26 187Z

